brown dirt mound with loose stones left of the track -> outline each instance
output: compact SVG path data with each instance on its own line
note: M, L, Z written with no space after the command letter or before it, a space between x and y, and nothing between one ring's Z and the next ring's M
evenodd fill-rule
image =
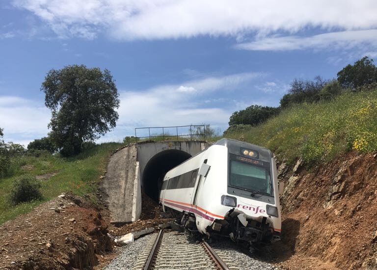
M95 206L61 195L0 225L0 269L89 269L112 249L107 224Z

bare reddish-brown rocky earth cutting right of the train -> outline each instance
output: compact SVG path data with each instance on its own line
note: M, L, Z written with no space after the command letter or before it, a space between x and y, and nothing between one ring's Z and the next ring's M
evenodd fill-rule
M349 153L312 171L281 163L279 177L282 243L291 252L283 266L319 269L297 265L316 257L327 264L321 269L377 269L377 154Z

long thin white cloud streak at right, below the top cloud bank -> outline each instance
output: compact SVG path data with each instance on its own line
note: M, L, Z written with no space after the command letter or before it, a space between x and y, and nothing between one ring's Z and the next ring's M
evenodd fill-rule
M350 49L363 44L377 46L377 29L341 31L309 37L283 36L262 38L235 47L250 51L292 51L305 49Z

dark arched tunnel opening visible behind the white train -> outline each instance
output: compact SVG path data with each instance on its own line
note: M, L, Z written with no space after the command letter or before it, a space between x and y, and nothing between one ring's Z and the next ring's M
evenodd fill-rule
M176 149L165 150L153 156L143 171L141 182L144 192L155 201L159 201L162 180L166 172L190 157L190 154Z

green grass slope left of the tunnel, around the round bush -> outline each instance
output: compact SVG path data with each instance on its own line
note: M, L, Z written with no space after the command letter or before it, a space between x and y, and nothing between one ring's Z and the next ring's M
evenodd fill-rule
M85 150L79 156L70 159L58 155L41 157L20 157L13 160L12 177L0 179L0 224L31 211L35 206L61 194L71 191L78 195L86 194L92 202L96 202L98 179L104 174L111 150L120 147L120 143L103 143ZM30 173L42 175L57 172L46 181L42 181L42 201L22 203L17 206L9 201L9 191L18 175Z

